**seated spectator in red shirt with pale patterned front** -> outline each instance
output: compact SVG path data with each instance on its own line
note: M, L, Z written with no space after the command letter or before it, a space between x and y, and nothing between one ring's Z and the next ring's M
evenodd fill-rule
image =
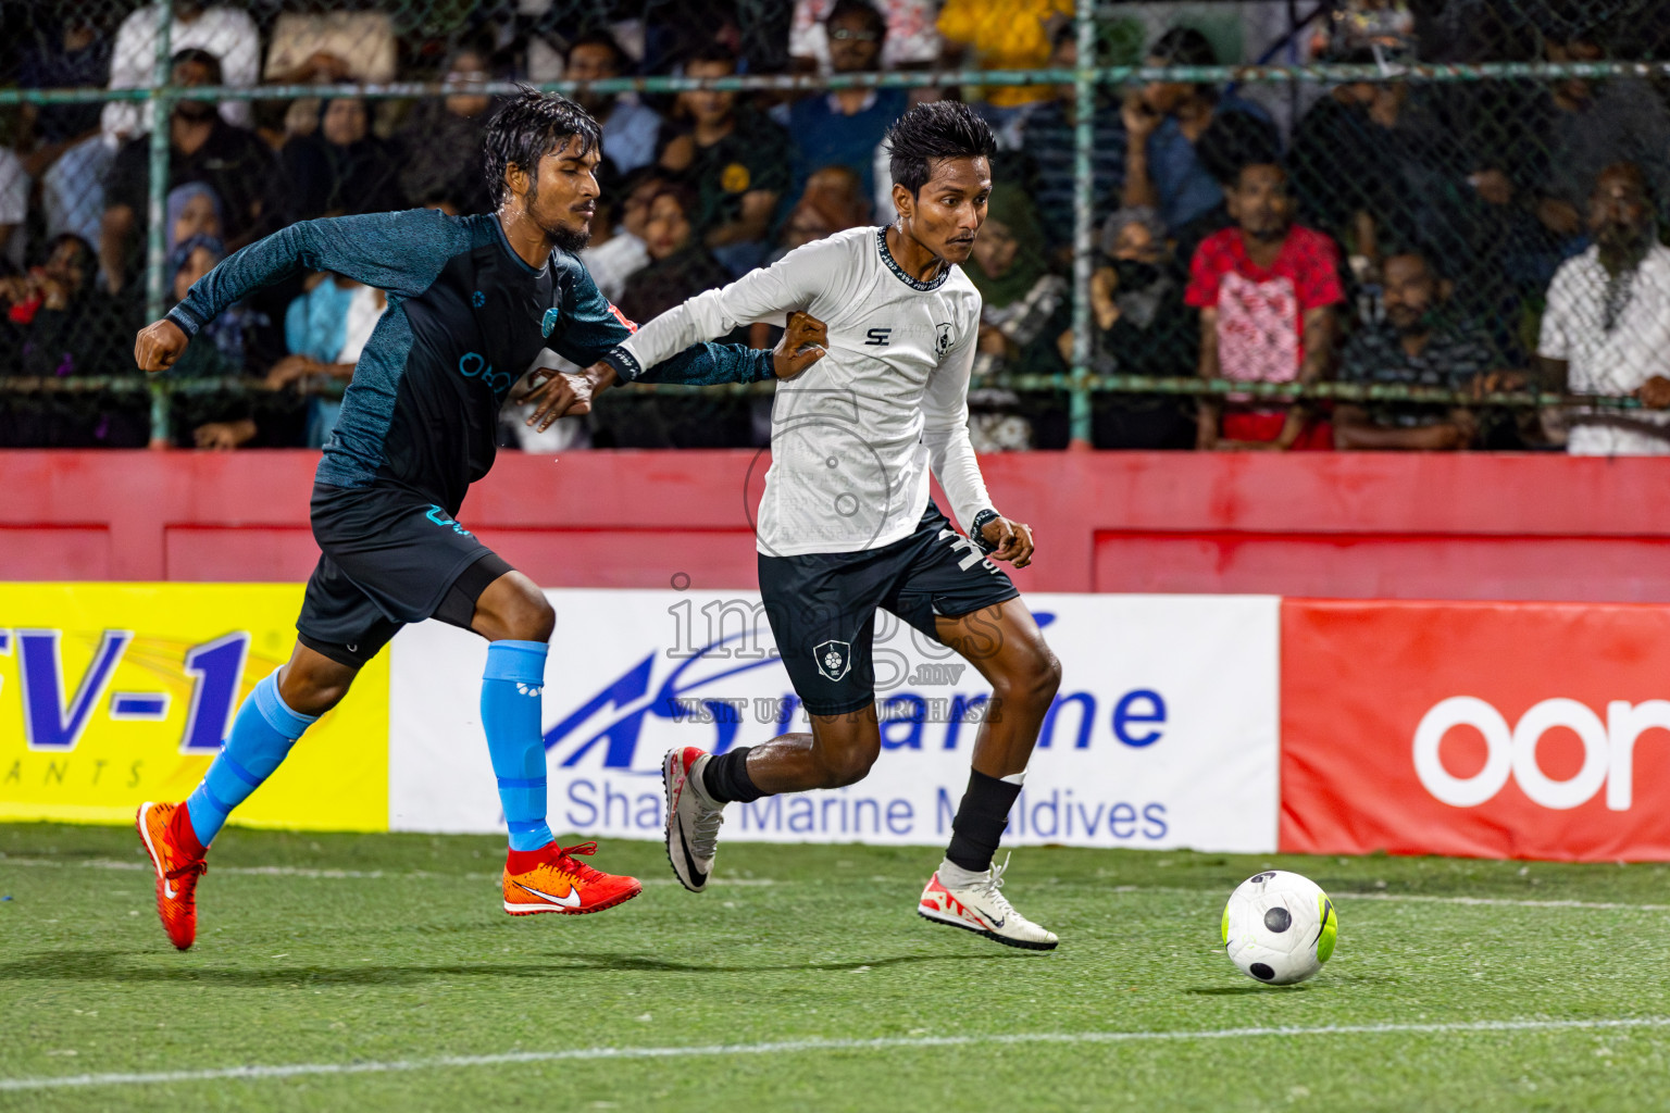
M1333 307L1344 300L1339 249L1293 224L1281 165L1241 167L1224 195L1236 227L1201 242L1184 297L1201 310L1201 377L1319 380L1333 359ZM1256 409L1236 395L1202 397L1196 447L1331 449L1333 431L1304 404Z

